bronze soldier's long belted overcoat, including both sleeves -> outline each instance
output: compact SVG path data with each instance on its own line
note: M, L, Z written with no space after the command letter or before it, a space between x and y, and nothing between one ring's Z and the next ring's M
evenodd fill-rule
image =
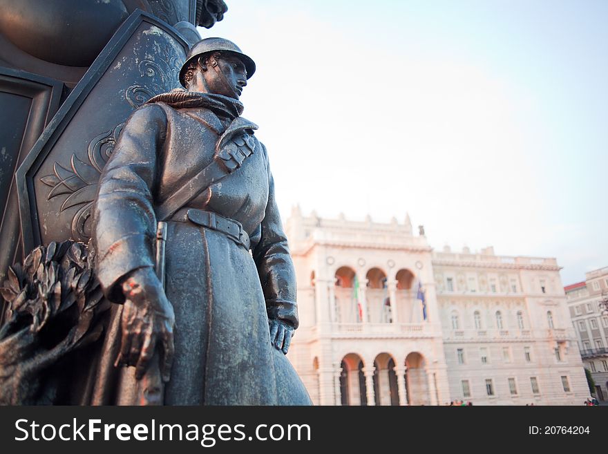
M211 162L218 138L242 111L240 102L221 95L167 94L153 101L126 123L95 202L95 271L117 304L120 279L154 265L155 207ZM188 207L238 220L251 253L218 231L168 225L166 293L176 323L166 404L310 404L294 368L269 339L269 317L297 328L296 281L267 151L253 131L244 138L254 153L243 167ZM95 404L135 404L134 368L116 380L111 364L119 325L117 310L93 385Z

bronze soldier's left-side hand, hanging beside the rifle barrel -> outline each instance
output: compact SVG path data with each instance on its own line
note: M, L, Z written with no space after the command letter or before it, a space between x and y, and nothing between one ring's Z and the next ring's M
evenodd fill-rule
M122 345L116 363L135 366L135 377L141 379L160 343L160 373L169 381L175 314L162 284L152 268L140 268L123 281L122 292Z

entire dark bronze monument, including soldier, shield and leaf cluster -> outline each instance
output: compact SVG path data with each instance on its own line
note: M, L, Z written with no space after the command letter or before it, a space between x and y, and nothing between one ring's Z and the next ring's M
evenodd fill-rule
M13 3L0 404L310 404L283 354L296 287L267 153L240 117L255 66L196 44L226 4Z

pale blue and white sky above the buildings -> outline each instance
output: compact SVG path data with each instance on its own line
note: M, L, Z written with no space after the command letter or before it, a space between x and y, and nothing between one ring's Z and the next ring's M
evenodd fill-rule
M283 216L608 266L608 1L227 0Z

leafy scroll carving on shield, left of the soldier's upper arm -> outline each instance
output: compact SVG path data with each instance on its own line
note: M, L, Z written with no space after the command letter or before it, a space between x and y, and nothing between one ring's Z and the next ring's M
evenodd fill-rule
M88 144L88 162L80 160L76 154L72 155L69 166L62 166L55 162L53 174L40 178L46 186L51 187L46 199L51 200L58 196L67 196L60 211L71 207L82 207L72 220L72 237L79 241L88 241L91 238L91 218L93 200L97 194L99 176L114 151L118 136L124 123L119 124L111 131L96 135Z

